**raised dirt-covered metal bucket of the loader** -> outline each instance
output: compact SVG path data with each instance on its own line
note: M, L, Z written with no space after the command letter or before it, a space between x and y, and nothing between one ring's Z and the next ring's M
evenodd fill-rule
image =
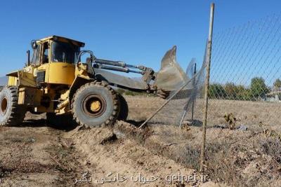
M189 81L181 66L176 62L176 46L166 52L157 73L154 86L157 90L174 91L180 89Z

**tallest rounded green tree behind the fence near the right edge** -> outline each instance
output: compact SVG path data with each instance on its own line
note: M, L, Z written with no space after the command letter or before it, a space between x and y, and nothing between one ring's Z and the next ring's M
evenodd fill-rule
M264 97L266 93L269 92L264 79L261 77L251 78L251 94L254 96L254 99L259 97Z

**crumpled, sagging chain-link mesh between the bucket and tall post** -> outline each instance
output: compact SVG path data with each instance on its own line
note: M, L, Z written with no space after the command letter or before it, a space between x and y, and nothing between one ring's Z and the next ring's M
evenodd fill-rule
M204 60L205 62L205 60ZM195 124L197 120L194 117L196 100L202 97L202 89L205 79L206 64L197 71L197 62L193 58L186 69L187 83L178 85L175 91L170 92L168 99L171 101L154 116L150 124L178 125ZM200 122L201 123L201 122Z

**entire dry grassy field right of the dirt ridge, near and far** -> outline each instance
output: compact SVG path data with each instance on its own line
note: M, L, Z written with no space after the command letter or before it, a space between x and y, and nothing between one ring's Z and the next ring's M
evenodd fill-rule
M164 100L157 97L126 97L130 119L143 119ZM202 121L203 100L195 104L195 119ZM200 127L188 132L176 126L185 102L173 100L152 119L152 136L145 140L151 151L199 168ZM281 103L209 100L207 129L207 173L212 181L232 186L277 186L281 183ZM233 130L226 113L235 118ZM188 116L189 118L190 116ZM166 125L163 125L166 124ZM244 125L248 130L237 130ZM264 133L270 132L270 133ZM274 133L272 133L274 132ZM277 134L277 135L276 135Z

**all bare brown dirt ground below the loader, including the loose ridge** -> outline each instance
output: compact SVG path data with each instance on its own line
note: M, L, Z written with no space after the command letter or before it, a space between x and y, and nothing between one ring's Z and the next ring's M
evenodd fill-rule
M129 127L125 134L118 132L119 123L129 123L119 122L114 129L77 127L66 132L47 127L44 118L28 114L20 127L0 127L0 186L184 186L166 183L166 176L194 172L163 156L159 148L152 151L145 142L149 131L137 132ZM85 172L92 182L74 185ZM126 176L127 180L98 185L96 180L110 173ZM157 180L133 182L140 174Z

